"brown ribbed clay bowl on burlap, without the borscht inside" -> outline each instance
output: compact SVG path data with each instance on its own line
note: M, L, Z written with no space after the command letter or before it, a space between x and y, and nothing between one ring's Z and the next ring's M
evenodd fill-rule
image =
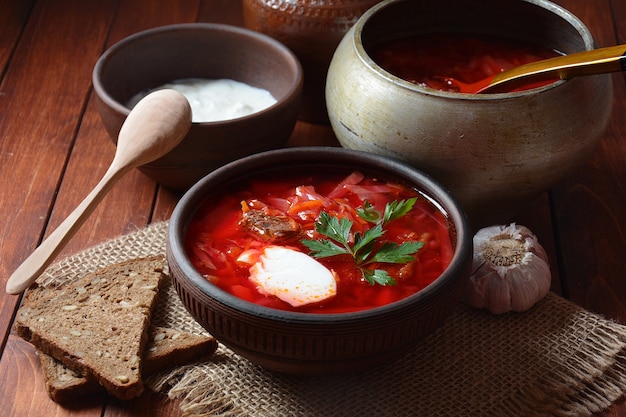
M447 213L454 256L433 283L403 300L353 313L288 312L237 298L195 269L184 246L200 204L251 177L268 173L358 169L405 183ZM167 236L174 286L189 313L221 343L273 371L333 375L363 371L402 357L451 314L470 273L472 234L456 201L437 182L395 159L342 148L302 147L264 152L219 168L182 197Z

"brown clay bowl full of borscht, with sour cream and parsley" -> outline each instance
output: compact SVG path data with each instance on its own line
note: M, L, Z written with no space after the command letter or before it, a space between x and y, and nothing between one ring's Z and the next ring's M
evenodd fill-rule
M192 317L294 375L399 360L458 306L472 235L456 200L397 159L339 147L252 155L194 185L167 260Z

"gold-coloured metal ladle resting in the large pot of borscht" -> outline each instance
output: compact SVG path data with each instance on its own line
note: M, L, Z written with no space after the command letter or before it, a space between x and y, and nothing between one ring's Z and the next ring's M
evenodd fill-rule
M531 62L475 83L463 83L455 79L448 79L448 82L456 84L460 91L466 93L505 93L534 83L619 71L626 71L626 45Z

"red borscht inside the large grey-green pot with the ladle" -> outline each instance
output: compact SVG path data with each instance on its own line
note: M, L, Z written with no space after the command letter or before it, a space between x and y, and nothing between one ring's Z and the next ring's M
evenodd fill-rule
M475 93L477 83L498 73L559 54L515 39L471 34L423 34L371 48L371 58L391 74L424 87ZM458 82L460 81L460 83ZM553 81L531 84L538 87Z

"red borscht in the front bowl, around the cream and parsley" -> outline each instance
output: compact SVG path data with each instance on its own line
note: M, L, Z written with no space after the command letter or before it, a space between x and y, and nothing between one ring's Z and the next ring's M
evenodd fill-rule
M399 202L414 204L405 212ZM362 213L386 213L387 205L402 213L388 219L377 238L363 246L373 253L403 244L419 248L399 263L381 261L361 266L368 273L384 270L390 283L368 281L367 274L349 255L313 255L310 242L330 240L320 232L320 219L335 219L335 226L351 223L346 238L354 247L355 241L364 243L363 237L375 227L374 220L365 220ZM331 249L333 243L329 243ZM185 246L195 268L224 291L259 305L305 313L353 312L401 300L439 277L454 252L446 214L428 197L360 172L250 179L219 198L203 202L190 222ZM297 306L268 294L252 279L267 248L282 248L315 259L334 277L336 291L322 301ZM294 268L291 273L295 279L305 272L304 266Z

